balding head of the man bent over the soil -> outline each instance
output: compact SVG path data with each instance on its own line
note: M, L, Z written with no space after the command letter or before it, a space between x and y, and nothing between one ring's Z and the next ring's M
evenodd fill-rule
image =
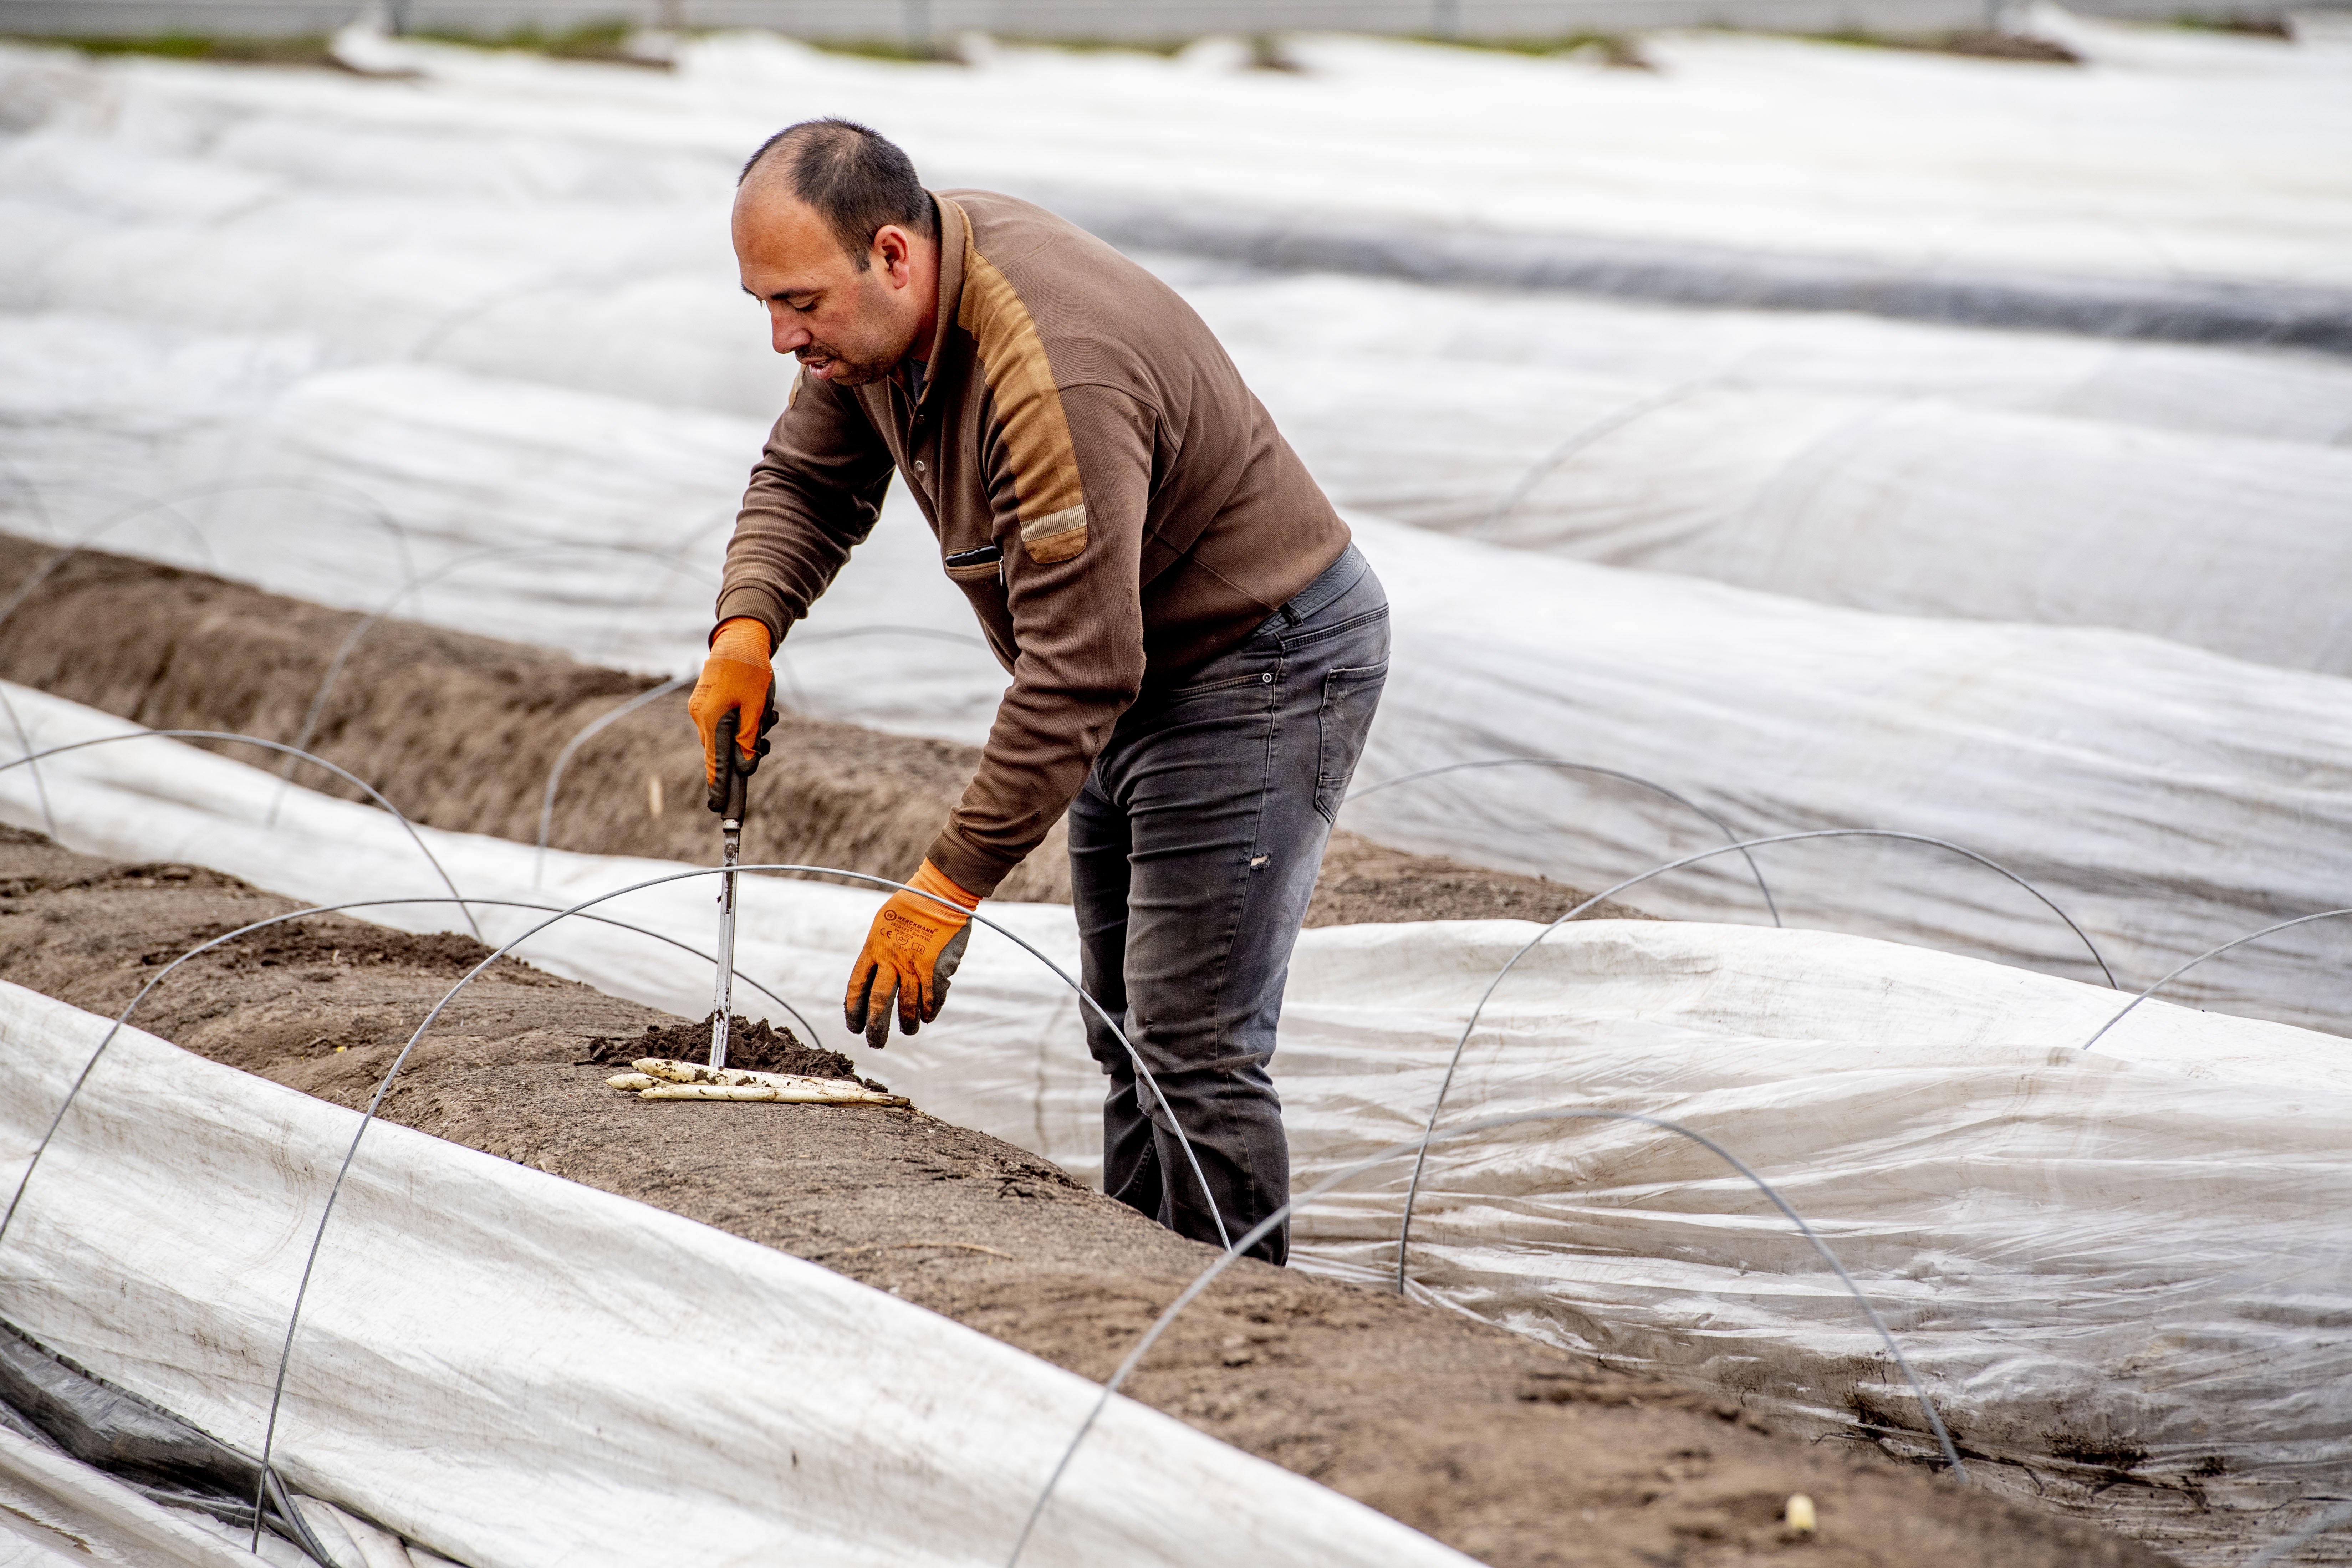
M929 355L938 212L906 153L863 125L769 136L736 181L734 247L769 341L809 376L866 386Z

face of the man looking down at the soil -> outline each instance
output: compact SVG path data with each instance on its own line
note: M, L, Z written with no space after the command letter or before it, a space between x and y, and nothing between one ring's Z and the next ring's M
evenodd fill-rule
M767 306L776 353L818 381L880 381L915 348L929 301L915 299L903 230L882 228L861 266L807 202L755 176L736 193L734 247L743 292Z

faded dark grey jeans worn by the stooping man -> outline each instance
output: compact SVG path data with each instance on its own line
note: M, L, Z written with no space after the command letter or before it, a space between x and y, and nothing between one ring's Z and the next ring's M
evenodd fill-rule
M1129 708L1070 804L1087 990L1190 1135L1232 1239L1291 1197L1265 1067L1291 945L1385 679L1388 595L1348 545L1247 642ZM1138 1103L1134 1063L1091 1013L1087 1048L1110 1077L1103 1192L1214 1244L1176 1126ZM1251 1255L1289 1258L1289 1225Z

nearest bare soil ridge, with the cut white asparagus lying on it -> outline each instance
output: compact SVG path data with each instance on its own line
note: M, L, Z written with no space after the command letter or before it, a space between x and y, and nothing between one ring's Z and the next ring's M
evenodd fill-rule
M292 907L198 867L118 865L0 830L0 973L94 1013L120 1013L205 933ZM360 1107L482 952L466 938L308 917L188 961L136 1023ZM647 1027L701 1030L499 964L449 1004L383 1114L809 1258L1096 1380L1214 1255L1023 1150L917 1110L652 1103L616 1095L607 1067L581 1065L590 1041L644 1039ZM89 1091L106 1093L103 1067ZM35 1178L26 1201L71 1194ZM1776 1429L1722 1392L1261 1262L1204 1293L1129 1392L1496 1568L2171 1561L1860 1441ZM1790 1493L1813 1497L1818 1535L1783 1535Z

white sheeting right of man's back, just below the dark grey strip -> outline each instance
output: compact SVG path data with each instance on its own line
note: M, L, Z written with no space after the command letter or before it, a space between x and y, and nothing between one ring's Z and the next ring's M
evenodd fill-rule
M1828 604L2110 625L2352 675L2352 451L1931 400L1256 355L1329 494ZM2260 604L2260 614L2249 614Z

